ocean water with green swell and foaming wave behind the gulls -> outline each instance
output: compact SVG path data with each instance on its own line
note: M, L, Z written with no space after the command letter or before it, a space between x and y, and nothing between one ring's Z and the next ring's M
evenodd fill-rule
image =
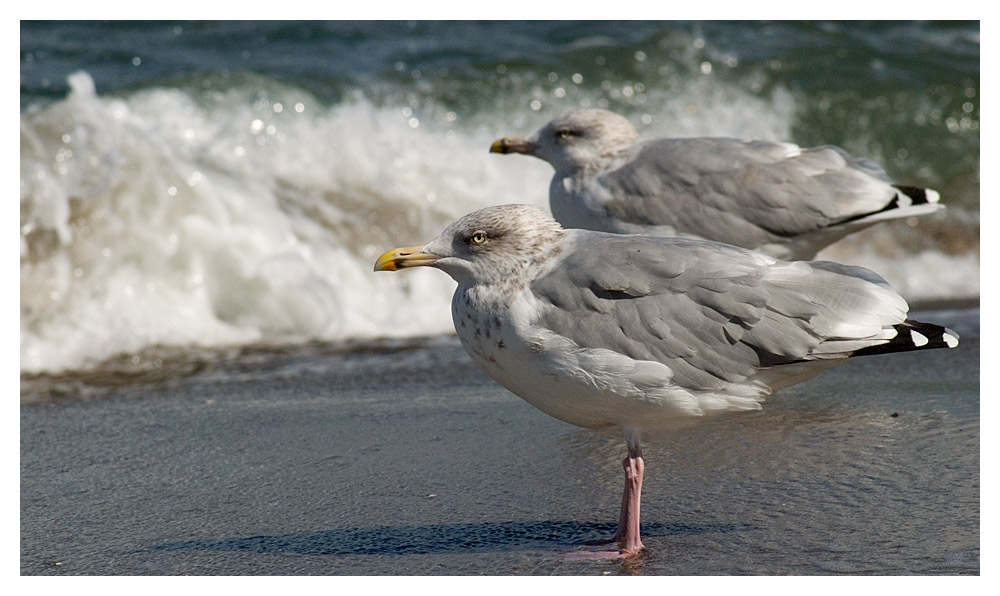
M550 166L489 145L580 106L935 188L943 212L820 256L975 301L979 45L978 22L22 22L21 372L451 333L447 276L375 258L545 206Z

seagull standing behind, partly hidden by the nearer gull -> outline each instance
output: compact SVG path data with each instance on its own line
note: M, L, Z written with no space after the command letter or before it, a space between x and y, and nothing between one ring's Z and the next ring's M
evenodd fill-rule
M555 168L549 205L567 228L691 236L808 260L876 222L942 208L937 192L899 186L838 147L728 138L640 140L606 110L574 110L493 153Z

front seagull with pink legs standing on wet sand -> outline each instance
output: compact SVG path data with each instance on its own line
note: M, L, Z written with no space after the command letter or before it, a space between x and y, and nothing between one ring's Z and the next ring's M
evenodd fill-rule
M954 332L906 318L875 273L785 262L716 242L564 230L535 207L487 207L376 271L436 267L486 373L560 420L618 427L628 457L618 533L643 548L644 431L679 417L760 409L770 393L852 356L953 348Z

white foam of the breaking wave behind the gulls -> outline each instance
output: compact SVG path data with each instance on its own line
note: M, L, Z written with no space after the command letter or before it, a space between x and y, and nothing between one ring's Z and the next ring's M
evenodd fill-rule
M497 136L524 132L503 115L421 121L361 97L323 106L273 83L112 98L85 73L70 82L66 100L21 114L24 372L152 345L450 333L453 282L376 274L375 258L485 205L547 203L547 164L488 153ZM735 120L754 124L737 133L782 138L790 101L735 95L700 119L719 131L650 128L720 134L722 114L750 111ZM978 257L922 255L904 275L919 278L928 260L951 278L900 287L908 297L978 295Z

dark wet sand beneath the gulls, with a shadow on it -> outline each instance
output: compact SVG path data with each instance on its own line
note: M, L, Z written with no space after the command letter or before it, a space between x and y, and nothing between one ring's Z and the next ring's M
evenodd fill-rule
M960 348L646 441L627 562L566 557L614 532L621 437L536 411L454 339L31 400L21 574L978 575L978 311L924 318Z

